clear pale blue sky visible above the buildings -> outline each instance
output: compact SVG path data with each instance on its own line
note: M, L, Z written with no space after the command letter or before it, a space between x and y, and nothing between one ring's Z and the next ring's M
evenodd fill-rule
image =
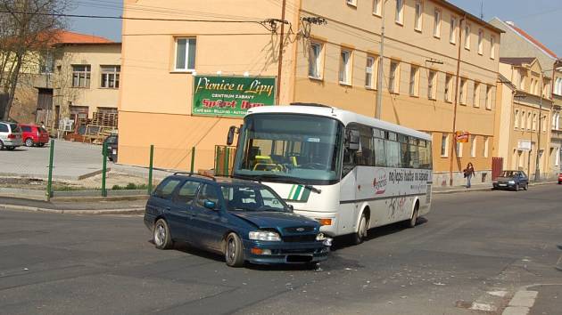
M70 12L72 14L120 16L122 13L122 0L72 0L72 2L73 8ZM484 20L499 17L501 20L514 21L519 28L523 28L542 44L546 44L550 50L562 56L562 36L559 34L562 24L558 20L562 16L561 0L450 0L450 3L475 16L480 16L481 3L483 3ZM70 29L79 33L104 36L113 41L120 41L121 36L120 20L77 18L70 20Z

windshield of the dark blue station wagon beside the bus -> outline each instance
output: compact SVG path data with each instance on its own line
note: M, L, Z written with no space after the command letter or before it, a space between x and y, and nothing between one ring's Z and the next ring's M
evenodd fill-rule
M228 211L290 212L289 207L269 188L222 186L222 196Z

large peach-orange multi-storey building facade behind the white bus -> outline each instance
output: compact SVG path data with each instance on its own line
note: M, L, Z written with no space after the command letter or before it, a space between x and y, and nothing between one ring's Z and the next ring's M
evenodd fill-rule
M126 1L125 16L163 14L135 5L162 4ZM225 82L274 77L276 103L318 102L374 117L384 14L381 118L432 134L436 185L449 184L451 168L454 183L462 182L468 162L478 182L491 180L499 28L440 0L293 0L286 2L281 59L280 25L268 22L282 17L281 4L166 4L177 12L210 8L215 19L230 22L123 21L122 163L145 166L154 144L162 152L157 166L188 168L195 146L196 168L212 167L214 145L224 144L227 127L241 120L197 114L195 81L205 75ZM141 139L144 128L156 132ZM470 133L469 141L454 141L456 131Z

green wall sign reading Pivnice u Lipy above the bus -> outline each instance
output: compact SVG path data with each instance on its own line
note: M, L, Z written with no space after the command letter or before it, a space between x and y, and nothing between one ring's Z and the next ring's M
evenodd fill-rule
M193 115L244 117L248 109L275 104L275 77L194 77Z

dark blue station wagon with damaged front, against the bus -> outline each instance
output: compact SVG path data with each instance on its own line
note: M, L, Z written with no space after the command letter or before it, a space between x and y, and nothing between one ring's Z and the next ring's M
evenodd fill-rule
M257 182L174 174L146 203L145 225L157 248L184 241L225 255L227 265L309 263L327 258L320 224Z

